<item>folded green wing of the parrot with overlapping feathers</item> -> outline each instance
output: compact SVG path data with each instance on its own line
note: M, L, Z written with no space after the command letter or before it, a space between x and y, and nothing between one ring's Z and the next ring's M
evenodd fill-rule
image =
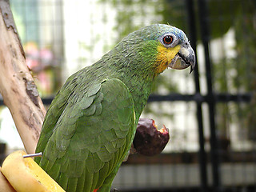
M69 84L61 91L70 92ZM134 102L122 81L108 79L85 89L54 99L56 109L50 109L42 130L48 132L38 142L40 166L66 191L110 187L136 130Z

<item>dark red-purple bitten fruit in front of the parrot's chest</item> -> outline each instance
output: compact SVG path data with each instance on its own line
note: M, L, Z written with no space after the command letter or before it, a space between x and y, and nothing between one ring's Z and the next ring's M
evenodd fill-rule
M134 148L138 154L146 156L160 154L169 138L170 135L166 126L158 130L153 119L140 118L134 137Z

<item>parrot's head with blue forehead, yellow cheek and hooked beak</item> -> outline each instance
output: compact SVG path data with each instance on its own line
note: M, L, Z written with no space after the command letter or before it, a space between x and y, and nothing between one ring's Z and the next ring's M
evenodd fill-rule
M170 67L183 70L195 66L194 50L186 34L174 26L154 24L130 33L116 46L126 58L136 61L136 68L160 74ZM147 73L148 74L148 73Z

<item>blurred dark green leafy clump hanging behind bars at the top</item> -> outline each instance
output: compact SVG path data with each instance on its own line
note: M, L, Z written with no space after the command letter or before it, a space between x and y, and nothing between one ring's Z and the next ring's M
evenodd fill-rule
M220 38L233 26L233 16L237 14L239 7L241 7L238 3L241 0L209 0L207 2L210 14L210 37ZM169 22L170 25L177 26L187 34L189 32L187 30L189 15L186 13L186 6L186 1L166 0L163 6L164 9L161 11L163 22ZM198 17L198 1L194 1L194 10L196 17ZM195 22L195 27L199 26L199 20L196 19ZM197 32L197 38L201 40L200 30L198 29Z

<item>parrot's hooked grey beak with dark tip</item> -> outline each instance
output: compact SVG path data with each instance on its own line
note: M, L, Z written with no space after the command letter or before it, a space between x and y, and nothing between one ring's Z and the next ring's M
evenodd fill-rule
M195 66L194 50L190 46L189 42L183 42L181 45L181 49L170 62L169 67L175 70L183 70L189 66L191 66L191 73L194 70Z

